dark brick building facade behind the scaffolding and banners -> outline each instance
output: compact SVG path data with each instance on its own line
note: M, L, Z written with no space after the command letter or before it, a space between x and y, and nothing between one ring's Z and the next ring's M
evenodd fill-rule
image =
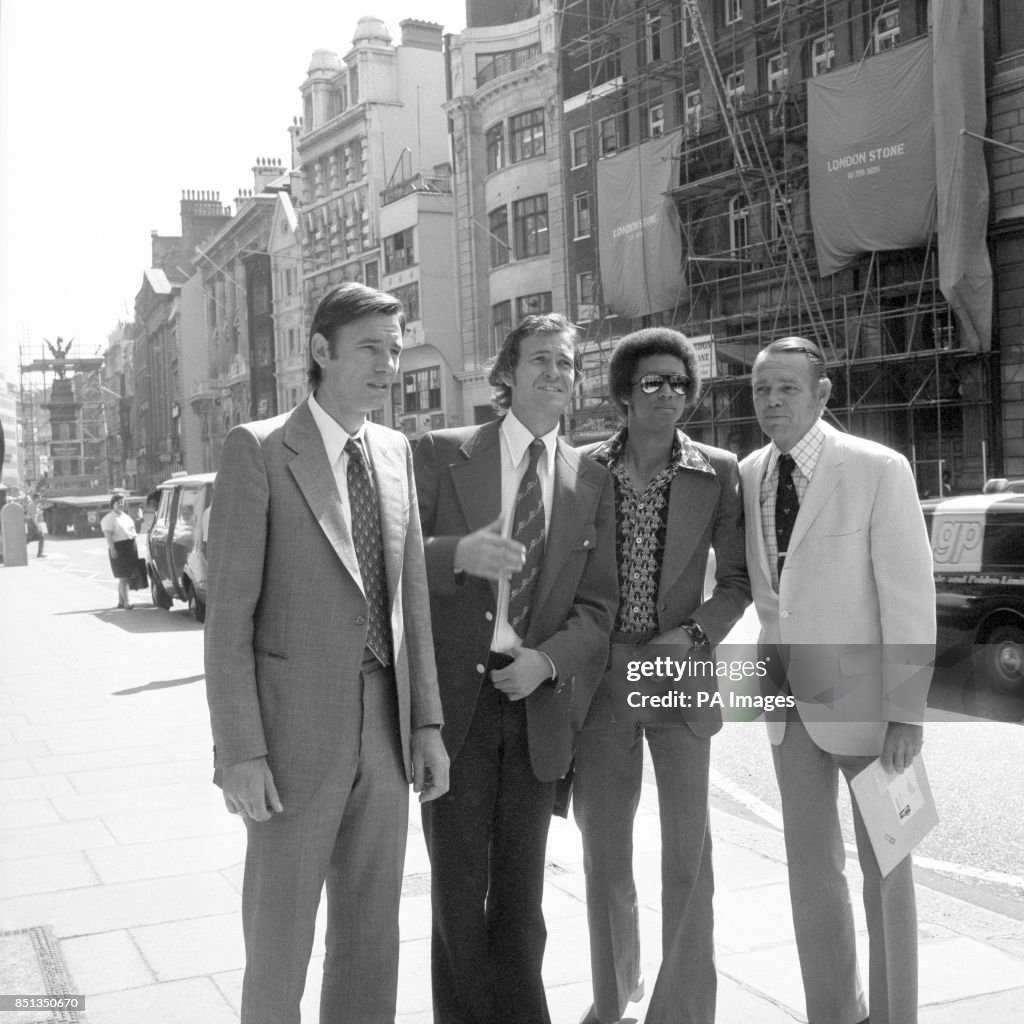
M987 0L989 113L1007 140L1022 130L1019 25L1018 4ZM581 439L613 425L597 383L613 339L667 324L699 339L710 382L687 424L699 439L737 454L761 443L754 357L773 338L802 334L828 355L830 415L903 452L923 494L979 489L1016 471L1021 350L1010 305L1022 293L1006 271L1022 265L1024 193L1011 180L1019 156L987 153L998 283L990 348L969 342L942 294L934 234L865 252L827 276L815 258L807 83L931 38L930 3L570 0L561 31L567 280L592 368L570 423ZM605 209L599 202L602 163L653 152L659 139L671 143L660 166L679 255L663 264L671 280L658 298L637 312L610 298L613 271L602 265L602 218L617 212L607 194Z

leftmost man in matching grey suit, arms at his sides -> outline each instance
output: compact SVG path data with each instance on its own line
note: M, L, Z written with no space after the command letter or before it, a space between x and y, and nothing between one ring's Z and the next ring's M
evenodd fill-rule
M331 291L310 397L221 455L206 673L214 780L248 830L243 1024L298 1024L325 883L321 1020L394 1021L409 782L447 787L412 454L366 421L403 324L390 295Z

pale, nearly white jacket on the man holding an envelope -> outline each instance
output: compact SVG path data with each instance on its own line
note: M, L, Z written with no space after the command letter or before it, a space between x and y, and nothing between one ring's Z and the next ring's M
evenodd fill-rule
M889 722L922 722L935 644L932 549L898 452L821 424L776 592L761 528L770 445L740 464L746 565L761 639L792 645L787 679L811 738L877 755ZM784 720L769 721L781 742Z

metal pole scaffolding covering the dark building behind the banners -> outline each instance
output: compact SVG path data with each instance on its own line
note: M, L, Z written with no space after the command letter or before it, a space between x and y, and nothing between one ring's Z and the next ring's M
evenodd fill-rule
M744 454L762 443L754 358L775 338L808 337L825 352L829 415L841 426L902 451L923 494L950 483L980 489L997 458L991 357L962 346L939 290L934 237L821 279L811 230L806 79L920 38L928 31L921 5L752 7L572 0L562 9L566 95L585 99L577 123L589 125L595 157L607 155L600 126L609 118L618 148L660 131L679 137L668 193L683 252L675 306L638 321L613 316L602 302L595 232L591 364L603 366L613 338L641 326L710 338L712 375L687 430ZM587 168L593 197L598 159ZM600 402L589 402L593 417Z

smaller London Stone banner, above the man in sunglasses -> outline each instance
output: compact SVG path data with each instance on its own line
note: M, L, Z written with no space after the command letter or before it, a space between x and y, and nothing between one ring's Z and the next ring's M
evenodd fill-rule
M673 132L598 162L601 289L605 305L620 316L673 309L679 297L679 218L666 196L679 138Z

